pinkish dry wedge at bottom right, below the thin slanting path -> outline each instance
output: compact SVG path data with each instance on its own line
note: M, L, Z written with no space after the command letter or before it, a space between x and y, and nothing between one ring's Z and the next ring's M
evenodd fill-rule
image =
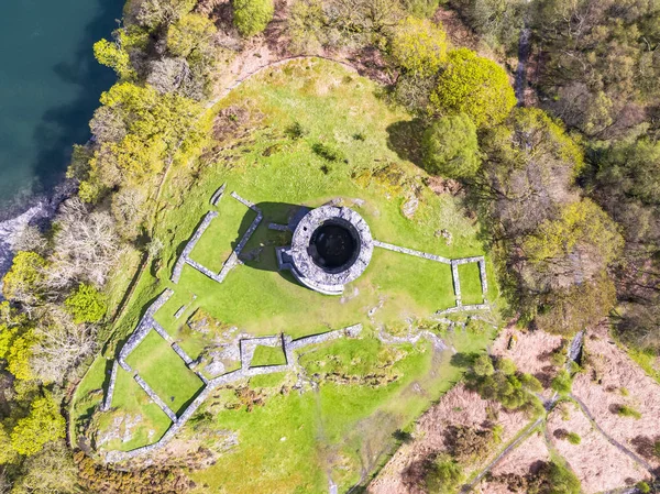
M586 494L622 487L649 476L648 472L594 429L576 405L570 403L563 406L568 415L556 409L548 416L548 437L559 454L569 462ZM580 444L561 438L562 430L578 433Z

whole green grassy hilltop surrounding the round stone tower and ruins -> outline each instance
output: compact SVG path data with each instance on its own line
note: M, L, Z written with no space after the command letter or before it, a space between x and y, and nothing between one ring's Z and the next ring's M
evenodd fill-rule
M343 297L324 296L300 286L290 274L277 272L275 248L288 244L290 233L268 230L268 222L286 223L300 205L317 207L341 198L365 218L373 237L381 241L450 259L484 255L484 249L459 199L438 196L424 186L425 172L406 161L405 153L393 144L405 134L402 129L409 127L410 117L386 105L374 83L338 64L295 62L250 79L215 111L232 105L251 113L250 132L223 143L221 151L209 154L212 158L172 169L154 231L164 244L162 262L150 266L153 270L141 278L116 325L108 352L116 350L116 342L134 329L144 308L166 287L175 295L155 318L193 358L222 340L231 327L252 336L284 332L298 338L363 323L362 339L305 349L300 360L307 373L322 376L316 391L290 391L297 378L292 373L256 376L250 380L250 387L260 393L265 389L267 397L264 406L250 413L224 407L227 400L237 398L227 389L219 392L212 406L208 405L212 427L235 431L239 443L215 465L190 473L198 492L308 494L327 492L327 472L331 471L339 491L345 492L363 471L371 473L386 460L397 443L396 430L409 429L461 377L463 370L451 365L450 351L435 352L425 341L416 347L384 345L373 338L381 326L407 327L409 320L427 319L438 309L453 307L451 270L376 249L365 273L345 287ZM297 139L285 132L295 121L304 129ZM358 134L361 139L354 139ZM323 150L336 150L341 158L331 161ZM218 271L252 221L253 213L230 196L235 190L264 213L243 251L250 259L220 285L189 266L177 285L170 284L183 244L223 183L228 184L227 194L217 208L219 216L193 257ZM419 207L409 219L400 207L418 187ZM441 229L452 233L451 245L436 235ZM461 270L461 283L465 304L469 297L481 296L479 270ZM175 319L176 310L194 295L185 315ZM502 303L494 279L488 299ZM370 317L374 308L377 310ZM198 309L217 320L219 329L206 336L191 331L186 321ZM173 409L180 410L199 382L154 336L157 339L150 336L130 362ZM482 352L492 334L468 331L443 338L457 351L471 353ZM260 349L255 361L277 363L274 358L284 355L275 350L278 355L268 354L273 349ZM372 382L364 382L367 376ZM116 398L125 399L116 399L108 419L118 414L144 415L147 405L128 399L131 393L144 393L134 391L136 384L131 380L122 377L121 383L118 381ZM156 417L150 420L155 422ZM186 427L180 433L189 432ZM140 431L130 446L153 440ZM110 446L128 449L127 443Z

